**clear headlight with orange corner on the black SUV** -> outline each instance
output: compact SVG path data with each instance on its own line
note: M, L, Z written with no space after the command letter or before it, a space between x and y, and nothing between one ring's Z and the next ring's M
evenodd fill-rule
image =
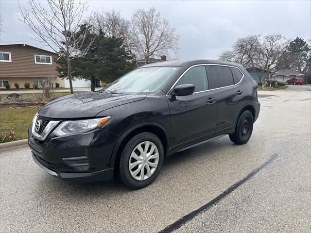
M88 132L96 128L104 127L109 119L110 116L96 119L64 121L54 130L54 133L58 136L63 136L71 133Z

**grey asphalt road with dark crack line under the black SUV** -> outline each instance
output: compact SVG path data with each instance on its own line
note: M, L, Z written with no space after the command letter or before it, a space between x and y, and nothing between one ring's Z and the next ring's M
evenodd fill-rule
M0 154L0 232L311 232L311 86L260 91L250 141L177 153L150 186L65 183Z

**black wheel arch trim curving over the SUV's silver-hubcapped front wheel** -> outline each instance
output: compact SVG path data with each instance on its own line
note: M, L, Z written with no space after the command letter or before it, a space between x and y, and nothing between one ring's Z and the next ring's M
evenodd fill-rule
M138 124L132 126L131 128L129 128L128 130L126 130L125 132L123 132L121 134L121 136L119 137L119 139L118 139L118 141L117 141L117 143L114 146L113 151L112 151L112 155L111 155L111 159L110 159L110 167L114 167L115 166L115 161L116 161L116 158L117 158L117 153L118 153L118 150L119 150L123 140L130 133L132 133L133 131L135 131L138 128L143 127L143 126L156 126L156 127L160 128L165 133L166 143L169 146L169 134L166 132L165 128L161 124L159 124L157 122L153 122L153 121L146 121L146 122L138 123ZM167 148L169 148L169 147L167 147ZM167 150L167 148L164 148L164 151Z

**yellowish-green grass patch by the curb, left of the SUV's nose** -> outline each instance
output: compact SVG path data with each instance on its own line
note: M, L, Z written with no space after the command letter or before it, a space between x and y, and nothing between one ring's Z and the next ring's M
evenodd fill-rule
M34 107L0 108L0 143L10 130L16 134L14 140L27 138L28 126L38 110ZM9 141L12 139L5 138L3 142Z

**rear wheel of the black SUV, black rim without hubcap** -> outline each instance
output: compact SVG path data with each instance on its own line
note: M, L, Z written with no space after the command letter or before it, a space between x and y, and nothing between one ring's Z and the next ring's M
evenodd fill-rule
M230 140L235 144L245 144L253 132L254 119L250 111L244 111L238 119L235 132L229 134Z

